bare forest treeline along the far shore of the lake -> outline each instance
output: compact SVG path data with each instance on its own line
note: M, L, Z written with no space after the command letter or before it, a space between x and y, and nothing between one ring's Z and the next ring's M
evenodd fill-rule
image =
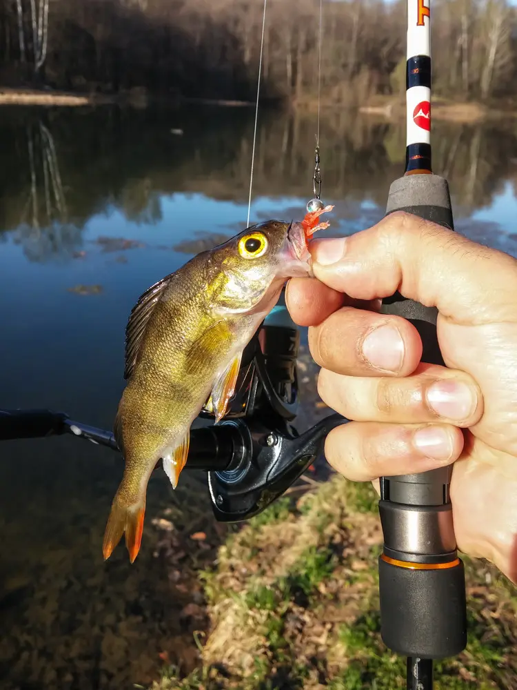
M254 99L261 0L3 0L0 84ZM313 99L318 0L270 0L264 97ZM322 99L354 105L405 89L406 2L323 2ZM434 88L457 99L517 91L507 0L432 0Z

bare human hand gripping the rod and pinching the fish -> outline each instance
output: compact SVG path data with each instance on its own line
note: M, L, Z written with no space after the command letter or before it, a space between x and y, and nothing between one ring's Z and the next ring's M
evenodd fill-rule
M325 455L350 480L454 462L458 549L517 582L517 260L405 213L312 243L317 280L292 279L318 392L351 421ZM447 367L420 362L416 328L378 313L396 290L438 308Z

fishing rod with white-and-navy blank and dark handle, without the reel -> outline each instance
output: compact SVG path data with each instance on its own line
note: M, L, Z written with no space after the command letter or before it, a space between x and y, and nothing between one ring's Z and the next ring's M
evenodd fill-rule
M386 215L402 210L454 230L447 180L432 172L430 37L429 4L407 0L406 165L389 188ZM423 362L444 364L436 308L397 292L383 300L382 311L414 324ZM451 477L449 466L380 482L381 636L389 649L407 656L410 690L431 690L433 660L455 656L467 645L465 572L454 536Z

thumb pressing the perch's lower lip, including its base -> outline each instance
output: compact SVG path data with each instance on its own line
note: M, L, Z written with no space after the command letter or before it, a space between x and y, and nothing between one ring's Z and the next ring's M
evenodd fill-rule
M398 290L456 322L516 320L517 260L418 216L392 213L311 253L316 278L353 299Z

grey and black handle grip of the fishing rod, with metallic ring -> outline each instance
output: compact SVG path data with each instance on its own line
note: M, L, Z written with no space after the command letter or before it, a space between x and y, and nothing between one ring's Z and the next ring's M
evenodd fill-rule
M394 181L386 213L396 210L454 230L449 186L438 175L406 175ZM383 300L381 311L415 326L423 344L422 362L444 364L436 308L395 293ZM458 654L467 644L465 575L456 553L451 475L452 467L445 467L381 477L381 635L389 649L407 656L440 659Z

